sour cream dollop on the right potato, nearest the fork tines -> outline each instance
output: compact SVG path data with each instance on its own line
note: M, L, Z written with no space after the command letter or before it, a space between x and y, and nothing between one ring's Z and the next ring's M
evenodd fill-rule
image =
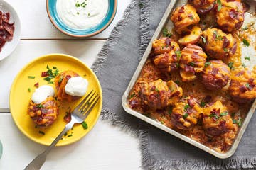
M82 77L71 77L65 85L65 93L71 96L84 96L87 91L88 81Z

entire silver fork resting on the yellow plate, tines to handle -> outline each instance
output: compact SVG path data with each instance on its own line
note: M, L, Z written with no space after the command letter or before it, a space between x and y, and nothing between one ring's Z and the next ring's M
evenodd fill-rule
M33 161L26 166L24 170L38 170L41 168L44 162L46 162L46 156L50 152L53 147L57 144L57 142L63 137L63 135L70 130L75 123L82 123L85 121L89 113L92 111L92 109L95 107L97 101L99 101L100 96L97 94L95 95L95 92L90 93L85 96L85 98L82 100L82 102L79 103L78 106L75 107L75 110L71 113L71 120L68 124L65 125L65 128L62 132L56 137L56 139L46 148L44 152L39 154ZM93 97L93 98L92 98Z

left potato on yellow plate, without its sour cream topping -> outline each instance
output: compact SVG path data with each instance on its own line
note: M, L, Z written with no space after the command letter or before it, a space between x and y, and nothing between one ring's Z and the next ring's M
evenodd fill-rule
M30 101L28 104L28 115L36 125L42 127L52 125L58 114L59 108L53 96L48 96L48 98L40 104L33 103L33 101Z

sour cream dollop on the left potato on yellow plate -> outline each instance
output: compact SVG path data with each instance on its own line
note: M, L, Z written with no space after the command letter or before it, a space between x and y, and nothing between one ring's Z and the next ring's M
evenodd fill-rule
M40 104L44 100L46 100L48 96L54 96L54 94L55 92L52 86L43 85L36 89L36 91L32 95L31 100L33 101L33 103Z

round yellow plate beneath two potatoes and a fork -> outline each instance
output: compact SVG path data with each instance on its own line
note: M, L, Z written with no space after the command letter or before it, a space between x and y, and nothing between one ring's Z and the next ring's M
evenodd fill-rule
M69 108L75 108L75 106L77 106L78 103L82 100L81 98L80 100L73 101L71 103L60 103L60 114L58 115L57 120L55 120L55 123L45 129L36 128L35 124L27 113L28 102L31 99L33 91L36 89L34 84L37 82L39 83L39 86L46 84L53 86L55 89L53 84L48 84L48 82L43 80L43 77L41 77L41 72L47 70L47 65L50 68L57 67L59 72L63 72L68 69L77 72L81 77L85 77L85 79L87 79L89 82L87 93L94 89L97 94L102 96L100 82L98 81L95 74L89 67L87 67L75 57L62 54L43 55L42 57L38 57L36 60L33 60L25 67L23 67L21 72L19 72L14 79L14 82L11 86L9 101L11 115L14 119L14 122L18 126L18 129L21 130L24 135L26 135L31 140L43 145L50 145L50 143L53 142L55 137L57 137L65 127L65 121L63 118L66 112L69 110ZM33 76L35 78L29 79L28 76ZM29 92L28 89L30 89L31 92ZM85 136L87 132L89 132L95 125L97 119L99 118L101 109L102 97L100 98L100 101L97 103L95 108L92 110L92 113L90 113L86 119L88 128L84 130L82 125L75 125L73 130L69 130L68 133L63 136L63 139L58 142L57 146L68 145L80 140L83 136Z

